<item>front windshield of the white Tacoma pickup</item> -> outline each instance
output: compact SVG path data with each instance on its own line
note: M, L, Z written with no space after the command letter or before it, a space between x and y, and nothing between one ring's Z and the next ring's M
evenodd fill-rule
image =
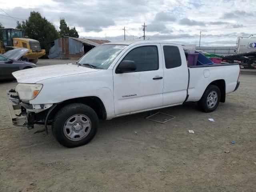
M85 54L78 64L93 68L108 69L112 61L126 48L126 45L100 45Z

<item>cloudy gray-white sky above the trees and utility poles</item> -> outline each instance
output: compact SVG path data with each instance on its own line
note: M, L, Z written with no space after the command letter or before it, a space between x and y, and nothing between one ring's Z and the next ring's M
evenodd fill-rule
M126 40L172 40L205 46L235 46L239 35L256 34L256 0L0 0L0 22L15 27L16 20L38 11L58 30L64 17L80 37ZM4 15L10 15L10 18Z

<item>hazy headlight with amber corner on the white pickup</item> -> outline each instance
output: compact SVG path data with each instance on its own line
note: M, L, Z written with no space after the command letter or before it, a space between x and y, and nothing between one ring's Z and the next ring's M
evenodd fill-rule
M18 92L20 99L24 102L34 99L40 90L42 89L42 84L26 84L19 83L15 90Z

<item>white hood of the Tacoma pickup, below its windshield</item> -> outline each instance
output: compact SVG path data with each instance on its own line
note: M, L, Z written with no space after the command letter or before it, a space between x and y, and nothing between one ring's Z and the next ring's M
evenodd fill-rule
M73 64L60 64L20 70L13 72L12 75L19 83L36 83L45 79L96 72L99 70Z

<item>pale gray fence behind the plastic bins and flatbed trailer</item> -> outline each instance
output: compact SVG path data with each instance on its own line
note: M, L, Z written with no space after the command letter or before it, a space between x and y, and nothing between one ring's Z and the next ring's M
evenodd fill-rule
M219 56L227 56L236 54L234 51L236 50L236 46L229 46L229 47L203 47L203 46L196 46L196 50L202 50L209 54L216 54Z

